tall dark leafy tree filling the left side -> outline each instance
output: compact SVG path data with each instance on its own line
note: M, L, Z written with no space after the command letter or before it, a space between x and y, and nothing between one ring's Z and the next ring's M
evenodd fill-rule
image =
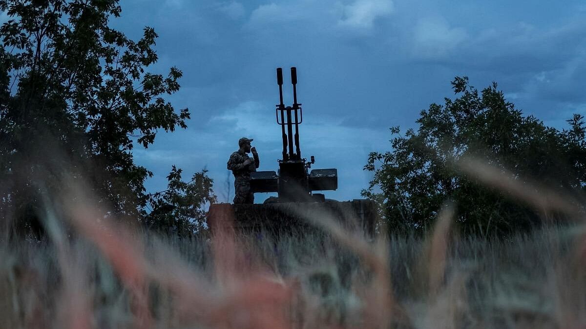
M90 181L118 217L147 217L152 173L132 149L148 148L158 129L186 128L190 116L163 98L179 90L181 71L147 71L157 61L154 29L133 41L110 28L118 0L0 0L0 11L10 18L0 28L4 217L26 222L63 174ZM211 184L204 194L213 196Z

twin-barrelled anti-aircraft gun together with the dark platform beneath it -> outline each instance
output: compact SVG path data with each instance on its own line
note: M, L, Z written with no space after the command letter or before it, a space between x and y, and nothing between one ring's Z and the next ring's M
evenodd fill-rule
M294 228L302 231L308 227L308 218L316 214L327 214L342 222L346 227L360 225L367 235L374 234L376 205L369 200L333 201L326 200L314 191L338 189L337 169L311 169L315 157L310 160L301 157L299 147L299 125L303 122L303 110L297 102L297 68L291 67L293 105L283 102L282 68L277 68L280 103L275 108L275 119L281 126L282 159L278 160L278 172L264 171L250 173L250 187L253 193L278 193L264 204L213 204L207 217L214 227L235 225L244 232L269 229L278 235L291 232ZM229 224L228 224L229 223Z

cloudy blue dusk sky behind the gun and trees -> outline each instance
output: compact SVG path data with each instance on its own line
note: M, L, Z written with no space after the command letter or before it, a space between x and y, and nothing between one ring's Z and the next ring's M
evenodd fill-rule
M337 200L360 198L367 154L388 150L389 127L414 126L421 109L452 97L450 81L478 88L498 81L524 114L563 128L586 112L586 3L582 1L122 0L111 23L137 39L159 34L165 73L183 71L169 98L192 112L189 128L159 133L134 155L165 189L171 165L186 176L206 167L220 201L231 200L226 170L242 136L254 138L259 170L277 170L280 127L275 68L296 66L304 108L301 150L314 168L337 168ZM285 84L285 103L291 104ZM227 180L228 179L228 180ZM230 189L228 189L230 187ZM230 193L230 196L227 196ZM267 197L257 194L257 201Z

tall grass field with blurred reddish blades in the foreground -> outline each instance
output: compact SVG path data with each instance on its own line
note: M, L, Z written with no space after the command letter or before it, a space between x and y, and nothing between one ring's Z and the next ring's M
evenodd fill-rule
M499 173L463 168L503 186ZM580 216L567 198L540 200L515 181L506 184L536 208ZM586 229L580 221L506 239L458 237L448 206L427 237L368 239L324 212L306 218L315 229L280 239L270 232L240 234L229 216L213 232L180 239L115 224L86 190L72 187L69 195L46 198L43 241L0 237L0 327L586 324Z

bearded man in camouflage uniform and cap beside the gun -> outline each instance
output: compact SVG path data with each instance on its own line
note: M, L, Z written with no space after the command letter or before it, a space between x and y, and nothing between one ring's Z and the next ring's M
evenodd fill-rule
M234 204L253 204L254 193L250 191L250 172L255 172L260 165L258 153L250 147L253 139L246 137L238 140L240 149L232 153L228 160L228 170L234 174ZM252 151L254 159L247 153Z

